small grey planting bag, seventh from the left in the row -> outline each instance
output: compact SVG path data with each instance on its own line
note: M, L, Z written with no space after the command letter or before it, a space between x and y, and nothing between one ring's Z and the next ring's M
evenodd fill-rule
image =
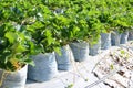
M121 40L121 34L116 31L111 33L111 44L112 46L119 46L120 45L120 40Z

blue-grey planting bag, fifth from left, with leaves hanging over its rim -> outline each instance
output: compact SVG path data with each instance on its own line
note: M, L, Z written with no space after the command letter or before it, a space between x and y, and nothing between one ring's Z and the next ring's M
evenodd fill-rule
M91 55L91 56L98 55L101 50L101 38L98 41L96 44L90 45L89 50L90 50L89 55Z

